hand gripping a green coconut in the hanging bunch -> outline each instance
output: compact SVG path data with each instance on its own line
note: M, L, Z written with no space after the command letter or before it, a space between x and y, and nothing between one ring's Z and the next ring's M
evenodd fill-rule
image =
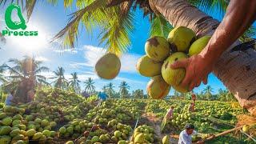
M201 54L197 54L190 58L174 62L170 67L172 69L185 68L186 76L181 86L189 86L189 90L193 90L194 87L200 86L201 82L205 85L207 84L208 74L213 70L213 66L213 60L205 58Z

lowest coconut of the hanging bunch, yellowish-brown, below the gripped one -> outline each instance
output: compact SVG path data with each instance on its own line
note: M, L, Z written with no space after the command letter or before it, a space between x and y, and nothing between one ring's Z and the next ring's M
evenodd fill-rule
M170 85L168 85L162 78L162 75L154 76L146 86L147 94L154 99L165 98L170 91Z

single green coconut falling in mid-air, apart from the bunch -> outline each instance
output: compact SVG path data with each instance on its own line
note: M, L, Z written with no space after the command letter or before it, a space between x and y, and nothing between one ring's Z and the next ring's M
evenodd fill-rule
M121 62L115 54L105 54L98 60L95 65L95 71L100 78L113 79L115 78L121 68Z

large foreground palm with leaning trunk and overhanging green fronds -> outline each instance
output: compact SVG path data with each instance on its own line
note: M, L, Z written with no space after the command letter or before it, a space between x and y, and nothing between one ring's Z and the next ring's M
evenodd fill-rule
M22 0L17 2L21 3ZM38 1L27 1L27 14L30 15L33 11L34 4ZM47 2L58 2L51 0ZM101 43L106 42L106 47L109 51L114 51L120 54L126 50L127 45L130 44L128 34L133 30L132 20L134 7L140 7L144 15L150 14L152 30L163 30L162 27L171 24L171 26L186 26L201 37L206 34L213 34L215 28L218 26L218 20L211 18L202 10L209 12L210 10L218 10L217 12L226 11L226 6L230 1L226 0L89 0L89 1L65 1L64 6L74 6L76 2L78 11L71 15L70 22L61 30L54 39L62 38L65 40L63 46L74 47L74 42L78 36L78 26L82 23L86 27L86 31L92 31L93 26L102 27ZM8 3L5 1L2 3ZM23 2L24 3L24 2ZM194 6L193 6L194 5ZM197 7L200 7L199 10ZM134 8L134 10L130 10ZM29 18L29 17L28 17ZM161 21L154 21L154 18L159 18ZM153 25L161 22L161 25ZM169 23L168 23L169 22ZM156 28L158 27L158 29ZM159 34L164 34L159 33ZM230 47L234 48L241 42L234 42ZM256 51L253 50L254 43L247 43L237 47L235 50L228 50L225 54L216 59L213 73L218 75L218 78L229 87L230 92L236 94L240 104L256 114L256 96L255 82L256 75L256 59L254 55ZM250 64L250 65L249 65ZM246 68L245 68L246 66ZM230 70L232 67L232 70ZM238 80L239 79L239 80ZM246 92L245 92L246 91Z

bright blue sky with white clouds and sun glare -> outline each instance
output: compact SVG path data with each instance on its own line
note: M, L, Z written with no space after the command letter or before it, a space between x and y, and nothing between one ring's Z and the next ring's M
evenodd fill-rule
M6 27L4 22L4 12L6 7L0 9L0 30ZM24 55L33 55L38 60L43 61L43 66L47 66L51 71L57 70L58 66L62 66L66 70L66 78L70 78L70 73L78 72L78 78L84 82L86 78L93 78L97 90L102 90L102 87L109 82L113 82L115 90L118 90L120 82L126 81L130 90L142 89L146 91L146 84L150 78L143 77L138 74L135 69L138 58L145 54L144 44L149 38L150 22L148 18L143 18L140 10L135 12L134 27L135 30L130 34L131 46L126 54L122 55L121 72L114 80L102 80L94 74L94 64L97 59L104 54L105 49L98 46L97 36L100 32L99 28L94 29L93 35L86 34L85 30L80 30L78 38L78 45L74 50L60 50L58 42L50 44L50 39L54 34L57 34L68 21L68 14L74 12L75 9L64 9L63 4L59 3L57 6L50 6L46 3L38 3L35 6L34 13L27 23L26 30L38 30L38 37L34 38L14 38L8 37L5 45L0 44L0 64L7 62L9 58L22 58ZM213 14L213 13L211 13ZM23 14L25 15L25 14ZM214 18L221 19L217 14ZM47 77L52 76L52 72L43 73ZM218 89L225 89L222 82L210 74L208 78L208 85L212 86L214 92ZM81 83L83 87L83 84ZM206 86L201 85L194 91L200 92ZM170 91L173 94L174 90Z

